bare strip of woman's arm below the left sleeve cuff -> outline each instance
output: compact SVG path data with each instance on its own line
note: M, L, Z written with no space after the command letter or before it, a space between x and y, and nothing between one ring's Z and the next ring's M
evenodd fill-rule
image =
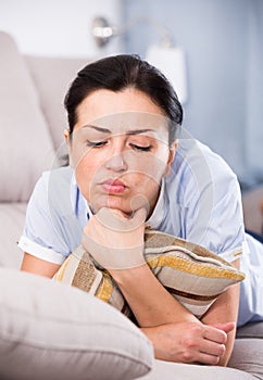
M52 278L59 268L59 264L46 262L45 259L37 258L26 252L24 253L24 258L21 265L21 270L49 278Z

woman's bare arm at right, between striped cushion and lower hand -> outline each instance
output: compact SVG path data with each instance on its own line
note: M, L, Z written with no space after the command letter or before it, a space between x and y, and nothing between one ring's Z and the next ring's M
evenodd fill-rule
M234 262L233 265L239 269L239 259ZM202 322L205 325L217 325L227 322L229 320L237 322L238 306L239 306L239 283L228 288L214 304L209 308L202 318ZM220 365L226 366L235 343L236 326L235 329L228 334L226 343L226 352L221 357Z

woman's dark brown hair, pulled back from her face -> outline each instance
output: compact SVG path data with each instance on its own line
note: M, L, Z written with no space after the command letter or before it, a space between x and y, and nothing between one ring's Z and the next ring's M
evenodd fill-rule
M114 92L134 87L146 93L170 119L170 142L176 138L183 122L183 109L166 77L138 55L108 56L85 66L72 83L64 105L67 111L70 134L77 122L77 106L91 92L108 89Z

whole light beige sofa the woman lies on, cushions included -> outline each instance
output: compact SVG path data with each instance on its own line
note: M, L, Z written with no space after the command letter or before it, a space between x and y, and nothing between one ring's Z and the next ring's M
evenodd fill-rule
M25 56L3 31L0 58L0 379L263 379L263 322L238 329L227 368L165 363L110 305L18 270L29 195L42 170L64 164L63 98L90 59Z

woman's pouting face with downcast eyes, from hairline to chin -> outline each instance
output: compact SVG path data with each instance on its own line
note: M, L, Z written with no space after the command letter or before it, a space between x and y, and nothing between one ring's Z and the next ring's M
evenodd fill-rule
M127 88L87 96L68 144L79 190L95 213L152 212L175 145L168 147L167 118L147 94Z

